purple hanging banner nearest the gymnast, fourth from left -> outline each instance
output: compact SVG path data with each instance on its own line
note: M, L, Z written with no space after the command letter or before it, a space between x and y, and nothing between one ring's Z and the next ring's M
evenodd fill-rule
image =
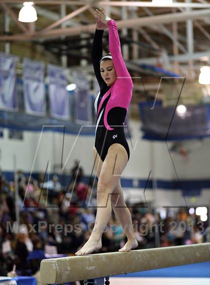
M89 97L89 82L86 76L74 71L72 74L75 89L75 123L91 124L91 100Z

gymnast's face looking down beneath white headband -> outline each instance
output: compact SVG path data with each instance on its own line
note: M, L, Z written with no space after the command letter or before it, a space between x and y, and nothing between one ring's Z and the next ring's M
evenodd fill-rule
M100 74L107 86L111 86L116 81L116 72L112 60L100 62Z

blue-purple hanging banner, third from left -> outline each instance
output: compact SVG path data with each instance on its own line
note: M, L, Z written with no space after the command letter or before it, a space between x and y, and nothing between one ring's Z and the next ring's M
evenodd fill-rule
M69 98L66 91L65 69L48 65L48 77L51 116L60 120L69 120Z

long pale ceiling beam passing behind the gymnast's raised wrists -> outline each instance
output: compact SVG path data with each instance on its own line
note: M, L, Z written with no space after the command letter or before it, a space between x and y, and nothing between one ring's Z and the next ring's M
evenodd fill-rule
M174 14L164 14L157 15L153 17L141 17L136 19L120 20L116 21L118 29L133 28L133 27L148 27L154 24L166 24L173 22L183 22L187 19L200 19L208 16L210 10L196 10L184 13L174 13ZM33 34L17 34L13 36L0 36L0 41L9 41L9 40L33 40L33 39L47 39L47 38L58 38L60 36L74 36L79 35L80 33L93 33L95 30L95 24L70 27L63 29L55 29L52 31L47 31L45 33L36 32Z

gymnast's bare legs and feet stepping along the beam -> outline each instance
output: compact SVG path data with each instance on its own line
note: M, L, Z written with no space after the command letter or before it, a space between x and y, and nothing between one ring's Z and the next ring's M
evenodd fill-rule
M122 145L115 143L109 147L103 162L100 160L95 148L93 148L93 153L94 156L95 154L97 156L95 163L98 176L97 213L94 228L88 241L75 254L89 254L101 248L101 236L111 216L112 206L127 236L126 244L119 251L129 251L137 246L137 241L133 234L130 212L123 201L120 187L120 175L127 164L127 152Z

